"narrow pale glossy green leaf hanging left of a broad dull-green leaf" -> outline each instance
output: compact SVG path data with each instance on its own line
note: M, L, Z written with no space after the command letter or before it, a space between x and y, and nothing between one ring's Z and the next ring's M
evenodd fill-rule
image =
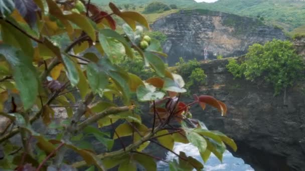
M74 65L74 62L66 55L62 56L63 61L65 63L67 76L73 86L77 85L79 82L78 71Z

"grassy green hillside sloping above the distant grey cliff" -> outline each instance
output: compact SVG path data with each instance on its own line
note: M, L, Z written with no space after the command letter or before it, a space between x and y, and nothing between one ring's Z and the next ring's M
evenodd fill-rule
M110 0L92 0L107 4ZM139 4L145 6L156 0L111 0L118 4ZM287 31L304 25L305 1L301 0L218 0L214 3L197 3L194 0L158 0L178 8L204 8L233 13L241 16L257 17L270 25L280 25Z

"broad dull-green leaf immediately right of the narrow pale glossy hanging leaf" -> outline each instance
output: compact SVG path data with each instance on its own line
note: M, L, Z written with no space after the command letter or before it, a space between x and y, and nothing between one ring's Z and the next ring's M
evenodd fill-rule
M97 93L100 89L106 88L108 84L107 75L104 72L99 71L97 65L92 62L87 64L87 78L94 93Z

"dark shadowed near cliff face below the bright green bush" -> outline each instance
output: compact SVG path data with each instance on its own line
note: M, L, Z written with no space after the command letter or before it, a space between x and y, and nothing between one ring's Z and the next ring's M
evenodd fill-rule
M213 95L227 104L227 116L213 107L192 113L210 129L231 136L242 157L256 171L305 170L305 82L273 96L273 87L244 79L233 79L226 59L202 64L207 85L198 94Z

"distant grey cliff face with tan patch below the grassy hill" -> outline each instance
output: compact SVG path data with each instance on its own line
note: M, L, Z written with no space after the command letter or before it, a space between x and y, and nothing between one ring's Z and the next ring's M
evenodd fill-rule
M281 29L258 19L205 9L181 10L158 19L151 27L168 36L163 48L169 64L175 64L180 56L202 60L206 47L210 59L239 56L253 43L286 38Z

